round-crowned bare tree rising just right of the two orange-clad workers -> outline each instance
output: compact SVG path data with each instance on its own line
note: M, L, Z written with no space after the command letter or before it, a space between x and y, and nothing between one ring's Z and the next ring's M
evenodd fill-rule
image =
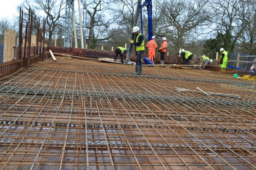
M177 48L192 40L196 29L207 25L208 0L164 1L160 7L163 30Z

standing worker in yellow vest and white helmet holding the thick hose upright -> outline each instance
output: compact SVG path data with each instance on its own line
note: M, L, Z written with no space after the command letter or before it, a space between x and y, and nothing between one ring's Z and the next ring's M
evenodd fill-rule
M144 53L145 50L145 45L144 45L144 36L143 34L140 33L140 28L135 26L132 28L132 32L134 33L134 40L130 39L130 43L135 45L135 72L134 74L142 74L142 54Z

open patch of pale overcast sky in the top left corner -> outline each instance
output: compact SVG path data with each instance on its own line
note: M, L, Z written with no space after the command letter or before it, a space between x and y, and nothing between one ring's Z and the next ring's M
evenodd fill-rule
M1 0L0 5L0 18L9 17L12 19L14 15L19 14L16 11L16 7L22 2L22 0Z

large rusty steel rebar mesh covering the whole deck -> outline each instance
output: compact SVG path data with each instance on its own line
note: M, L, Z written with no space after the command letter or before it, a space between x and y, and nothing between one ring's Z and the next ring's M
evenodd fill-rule
M0 78L0 168L256 168L253 81L214 71L133 71L64 58ZM175 86L241 99L177 93Z

